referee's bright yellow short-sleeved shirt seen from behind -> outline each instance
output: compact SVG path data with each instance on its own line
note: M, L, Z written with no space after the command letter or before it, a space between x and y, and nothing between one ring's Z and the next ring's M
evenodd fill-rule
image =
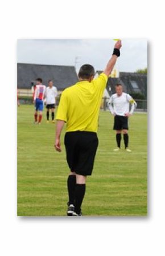
M66 132L97 132L98 114L108 76L102 73L92 82L80 81L63 91L56 120L67 122Z

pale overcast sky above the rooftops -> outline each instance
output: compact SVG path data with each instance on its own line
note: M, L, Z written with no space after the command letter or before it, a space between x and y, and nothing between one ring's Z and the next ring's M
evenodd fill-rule
M18 62L75 66L92 64L104 70L112 55L113 39L19 39ZM135 72L147 67L147 40L123 39L121 56L116 68L120 72Z

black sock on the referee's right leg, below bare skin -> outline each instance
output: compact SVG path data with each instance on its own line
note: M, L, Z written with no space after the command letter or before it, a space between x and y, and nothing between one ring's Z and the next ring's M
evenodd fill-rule
M76 184L75 188L75 212L80 214L81 212L81 204L83 202L83 198L85 195L85 184Z

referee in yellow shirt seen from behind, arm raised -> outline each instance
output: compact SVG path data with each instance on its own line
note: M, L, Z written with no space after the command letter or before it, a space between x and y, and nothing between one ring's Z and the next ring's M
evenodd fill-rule
M79 82L65 89L61 95L56 114L55 149L61 152L60 135L64 123L67 123L64 144L71 170L67 180L68 216L82 216L86 177L92 174L98 146L98 114L102 94L120 55L120 48L121 40L118 40L104 72L97 79L94 79L93 66L84 64L79 70Z

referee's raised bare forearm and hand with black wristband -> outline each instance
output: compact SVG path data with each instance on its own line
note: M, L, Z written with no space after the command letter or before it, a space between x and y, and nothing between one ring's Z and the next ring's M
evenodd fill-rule
M106 68L104 70L104 74L109 76L114 68L114 65L116 64L116 60L120 55L120 51L119 49L121 48L122 44L121 44L121 40L118 40L116 42L116 44L114 45L114 51L112 54L112 57L110 58L108 64L106 65Z

